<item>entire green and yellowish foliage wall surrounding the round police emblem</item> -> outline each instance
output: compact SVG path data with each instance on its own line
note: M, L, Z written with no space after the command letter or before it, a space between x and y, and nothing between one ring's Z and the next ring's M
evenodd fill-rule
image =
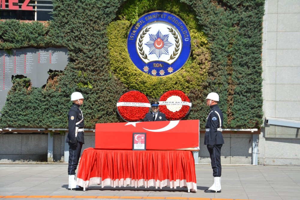
M70 94L82 92L86 128L121 122L116 101L126 90L158 100L182 90L192 101L185 119L204 128L209 92L220 95L224 128L262 124L262 16L264 0L55 0L47 23L0 21L0 49L67 47L65 70L49 75L45 87L28 78L13 80L1 110L0 127L66 128ZM191 55L179 72L152 77L129 58L129 28L144 13L165 10L179 16L192 38Z

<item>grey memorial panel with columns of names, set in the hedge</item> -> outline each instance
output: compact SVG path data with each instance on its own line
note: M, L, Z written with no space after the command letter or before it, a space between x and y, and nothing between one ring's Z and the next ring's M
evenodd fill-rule
M0 111L13 85L13 77L23 75L31 79L32 87L42 87L47 83L49 70L64 70L67 63L67 48L0 50Z

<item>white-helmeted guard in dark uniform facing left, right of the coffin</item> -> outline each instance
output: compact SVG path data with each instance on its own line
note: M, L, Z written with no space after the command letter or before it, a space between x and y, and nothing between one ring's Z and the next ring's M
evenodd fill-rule
M213 170L214 184L204 190L207 193L221 192L221 147L224 144L222 135L223 113L218 106L219 95L209 93L206 97L206 104L210 107L205 125L204 144L211 159L211 168Z

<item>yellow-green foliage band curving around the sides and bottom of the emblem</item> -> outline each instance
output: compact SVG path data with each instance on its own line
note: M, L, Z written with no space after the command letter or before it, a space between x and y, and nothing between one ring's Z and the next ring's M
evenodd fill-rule
M131 61L126 45L129 28L130 22L127 20L114 21L108 26L110 67L126 87L139 90L156 101L169 90L182 90L184 93L192 89L202 90L210 66L208 43L202 32L190 32L192 54L179 72L155 77L142 72Z

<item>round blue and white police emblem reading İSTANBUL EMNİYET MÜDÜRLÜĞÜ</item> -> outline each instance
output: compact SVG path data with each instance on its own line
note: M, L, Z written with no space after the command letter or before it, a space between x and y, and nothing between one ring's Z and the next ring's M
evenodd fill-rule
M142 72L152 76L170 75L190 56L190 33L184 22L172 13L146 13L131 27L127 49Z

